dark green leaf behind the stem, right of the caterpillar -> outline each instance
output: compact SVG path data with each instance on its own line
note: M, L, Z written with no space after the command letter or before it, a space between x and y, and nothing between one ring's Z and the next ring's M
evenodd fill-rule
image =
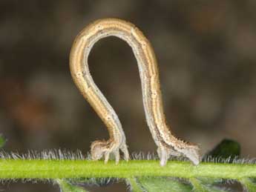
M228 162L232 162L234 158L240 156L240 144L231 139L223 139L213 150L207 153L203 159L207 156L221 159L229 159Z

